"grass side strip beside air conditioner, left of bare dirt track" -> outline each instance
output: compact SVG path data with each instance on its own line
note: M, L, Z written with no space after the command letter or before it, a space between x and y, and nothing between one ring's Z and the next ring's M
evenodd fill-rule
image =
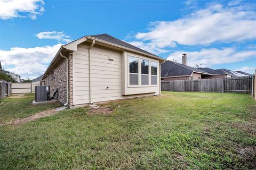
M61 106L59 102L47 105L32 105L34 99L35 94L26 94L20 98L12 95L0 100L0 124Z

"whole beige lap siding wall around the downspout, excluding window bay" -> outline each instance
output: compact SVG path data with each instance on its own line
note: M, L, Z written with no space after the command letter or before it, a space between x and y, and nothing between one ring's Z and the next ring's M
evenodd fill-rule
M121 51L96 45L92 48L91 60L93 103L153 95L122 95ZM90 103L89 45L78 45L77 52L73 53L73 87L73 105ZM159 94L159 87L155 94Z

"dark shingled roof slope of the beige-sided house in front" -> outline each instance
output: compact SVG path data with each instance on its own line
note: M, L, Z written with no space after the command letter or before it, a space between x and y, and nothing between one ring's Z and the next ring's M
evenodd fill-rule
M117 45L120 45L120 46L123 46L123 47L138 50L139 52L142 52L142 53L147 53L147 54L150 54L150 55L154 55L154 54L151 54L151 53L149 53L149 52L147 52L147 51L145 51L141 48L138 48L138 47L135 47L135 46L133 46L129 43L126 43L125 41L122 41L120 39L112 37L112 36L108 35L107 33L103 33L103 34L99 34L99 35L92 35L90 37L98 38L98 39L101 39L101 40L104 40L104 41L108 41L109 43L113 43L113 44L117 44ZM156 55L154 55L154 56L156 56Z

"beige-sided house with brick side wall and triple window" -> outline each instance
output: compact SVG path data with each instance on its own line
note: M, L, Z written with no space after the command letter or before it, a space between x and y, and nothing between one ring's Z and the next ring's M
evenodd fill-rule
M70 108L161 94L164 59L107 34L62 45L42 83Z

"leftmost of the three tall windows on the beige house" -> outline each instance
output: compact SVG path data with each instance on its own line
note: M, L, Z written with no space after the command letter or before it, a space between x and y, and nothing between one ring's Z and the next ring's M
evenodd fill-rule
M129 57L130 85L139 85L139 59Z

